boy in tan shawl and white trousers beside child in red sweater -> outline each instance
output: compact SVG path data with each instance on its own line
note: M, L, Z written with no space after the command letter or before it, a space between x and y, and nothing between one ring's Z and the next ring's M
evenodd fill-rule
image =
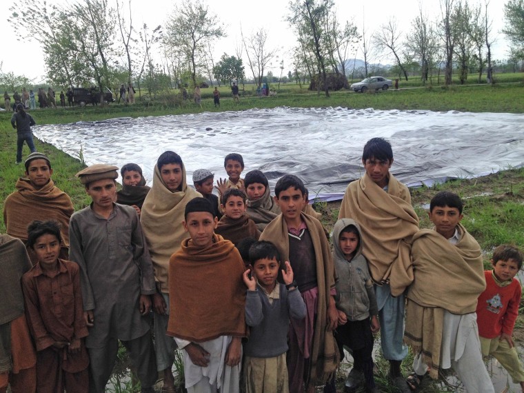
M415 354L407 383L418 390L429 369L453 367L466 392L494 392L482 360L476 324L478 295L485 290L481 247L461 225L462 201L452 192L430 203L434 230L413 236L414 281L407 290L405 341Z

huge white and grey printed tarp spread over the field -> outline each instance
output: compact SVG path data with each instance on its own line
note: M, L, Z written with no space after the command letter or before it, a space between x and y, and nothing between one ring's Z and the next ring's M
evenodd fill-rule
M347 183L361 177L363 146L372 137L390 141L392 172L411 187L524 163L523 114L274 108L79 121L33 132L88 165L138 163L148 183L165 150L181 155L188 183L199 168L225 178L223 159L238 152L243 174L259 169L272 186L296 174L310 198L328 200L341 199Z

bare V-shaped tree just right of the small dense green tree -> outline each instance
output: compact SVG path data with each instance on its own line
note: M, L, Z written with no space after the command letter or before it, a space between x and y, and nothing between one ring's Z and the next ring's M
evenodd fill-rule
M253 74L254 83L260 87L264 76L264 70L275 57L276 49L268 49L266 43L266 40L268 39L268 31L265 30L265 28L260 28L247 38L244 37L242 29L240 31L245 54L248 56L248 66Z

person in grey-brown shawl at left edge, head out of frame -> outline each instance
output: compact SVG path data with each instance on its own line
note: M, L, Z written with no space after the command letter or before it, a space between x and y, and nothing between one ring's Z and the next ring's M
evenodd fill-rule
M0 393L37 391L37 355L23 308L21 279L31 269L20 239L0 234Z

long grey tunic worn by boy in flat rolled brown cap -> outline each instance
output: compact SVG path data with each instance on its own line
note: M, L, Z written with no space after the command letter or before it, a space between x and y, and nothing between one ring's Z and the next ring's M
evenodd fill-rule
M105 219L88 206L71 216L69 237L70 260L80 266L83 310L94 313L85 346L143 336L150 324L140 314L140 295L156 289L137 212L114 203Z

